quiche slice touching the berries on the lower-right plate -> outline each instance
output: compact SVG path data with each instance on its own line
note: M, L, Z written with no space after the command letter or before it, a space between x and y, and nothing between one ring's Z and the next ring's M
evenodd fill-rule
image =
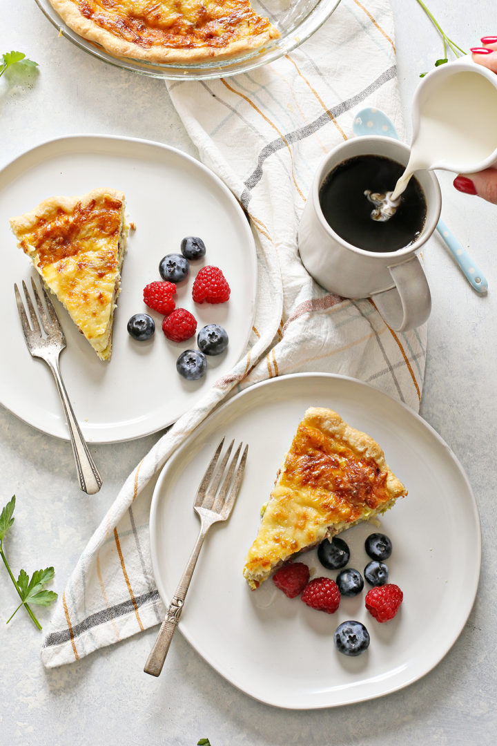
M276 476L244 576L258 588L294 554L384 513L407 495L382 448L332 410L311 407Z

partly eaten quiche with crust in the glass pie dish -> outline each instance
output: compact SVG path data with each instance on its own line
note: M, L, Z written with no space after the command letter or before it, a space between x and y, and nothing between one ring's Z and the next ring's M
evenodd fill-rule
M260 48L279 31L250 0L50 0L69 28L117 57L209 62Z

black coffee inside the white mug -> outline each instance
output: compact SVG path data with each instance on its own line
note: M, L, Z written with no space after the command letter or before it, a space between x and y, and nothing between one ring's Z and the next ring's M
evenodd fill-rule
M373 204L364 194L392 192L405 167L382 155L357 155L330 172L320 188L326 221L346 242L364 251L396 251L414 242L426 218L419 181L411 177L396 213L385 222L373 220Z

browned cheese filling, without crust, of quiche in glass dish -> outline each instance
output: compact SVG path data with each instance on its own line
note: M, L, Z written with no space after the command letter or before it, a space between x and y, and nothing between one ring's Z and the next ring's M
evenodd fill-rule
M80 14L144 49L152 46L224 48L271 24L248 0L74 0Z

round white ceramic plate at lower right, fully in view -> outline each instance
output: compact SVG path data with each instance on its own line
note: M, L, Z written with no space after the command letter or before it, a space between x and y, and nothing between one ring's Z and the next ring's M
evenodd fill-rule
M356 598L343 598L338 611L328 615L300 598L286 598L270 580L251 592L241 574L259 527L259 509L309 406L335 409L373 436L408 487L408 496L382 521L381 530L393 542L390 582L404 592L401 609L385 624L364 608L366 589ZM237 395L171 458L153 494L153 570L165 602L197 536L194 492L224 434L248 442L247 470L232 516L212 527L191 582L180 620L191 645L239 689L291 709L379 697L430 671L466 622L481 561L475 499L440 436L408 407L349 378L285 376ZM349 566L363 571L369 562L364 539L375 530L363 524L342 534L351 549ZM315 577L338 574L320 565L315 550L300 559L315 568ZM333 633L346 619L358 619L370 631L370 648L357 658L347 658L333 645Z

